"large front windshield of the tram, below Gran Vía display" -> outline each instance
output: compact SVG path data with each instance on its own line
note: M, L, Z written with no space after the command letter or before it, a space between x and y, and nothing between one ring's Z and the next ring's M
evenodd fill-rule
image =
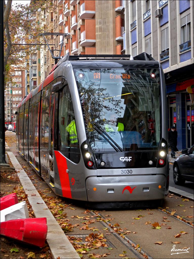
M158 69L76 69L74 73L83 106L87 139L94 152L158 147Z

